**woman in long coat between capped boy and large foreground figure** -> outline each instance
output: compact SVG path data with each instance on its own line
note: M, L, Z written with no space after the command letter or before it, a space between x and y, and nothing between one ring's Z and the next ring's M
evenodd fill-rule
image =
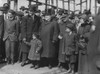
M83 25L83 24L82 24ZM78 35L78 50L79 50L79 58L78 58L78 73L79 74L86 74L88 70L87 67L87 44L90 38L90 28L91 25L84 23L84 26L81 25L80 34ZM85 70L85 71L84 71Z

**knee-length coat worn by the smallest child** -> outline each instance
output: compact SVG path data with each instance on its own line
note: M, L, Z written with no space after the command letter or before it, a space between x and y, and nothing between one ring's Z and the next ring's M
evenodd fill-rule
M40 60L40 50L42 47L42 42L38 39L35 39L35 40L31 40L31 42L28 44L31 46L28 59ZM36 51L38 51L38 53L36 53Z

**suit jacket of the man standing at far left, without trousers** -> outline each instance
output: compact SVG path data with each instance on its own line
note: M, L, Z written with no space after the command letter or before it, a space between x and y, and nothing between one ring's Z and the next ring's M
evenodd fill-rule
M17 41L19 36L19 21L16 19L9 20L7 19L4 24L4 37L3 40L5 41L7 38L10 41Z

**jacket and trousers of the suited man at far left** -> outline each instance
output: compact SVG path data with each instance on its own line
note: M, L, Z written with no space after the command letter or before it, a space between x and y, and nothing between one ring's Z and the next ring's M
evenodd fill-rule
M4 37L6 47L6 58L14 61L15 43L19 35L19 22L17 20L5 20Z

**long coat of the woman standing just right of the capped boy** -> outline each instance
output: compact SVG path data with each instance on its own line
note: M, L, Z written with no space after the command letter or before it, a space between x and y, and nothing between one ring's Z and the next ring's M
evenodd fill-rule
M78 73L79 74L87 74L86 72L88 72L88 55L87 55L87 44L88 41L90 39L90 25L86 25L83 28L83 31L81 32L80 35L82 35L84 37L84 42L85 42L85 47L82 48L80 46L78 46L78 50L79 50L79 55L78 55ZM80 40L80 38L79 38Z

